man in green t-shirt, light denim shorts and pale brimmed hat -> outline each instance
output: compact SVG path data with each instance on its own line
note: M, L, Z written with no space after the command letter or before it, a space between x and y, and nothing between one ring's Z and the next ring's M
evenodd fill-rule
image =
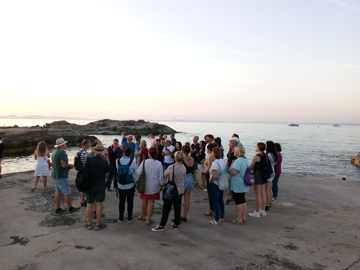
M80 207L72 207L71 205L71 188L69 184L69 169L72 169L74 165L69 164L67 154L65 152L66 143L63 138L56 140L55 148L57 148L51 156L51 162L53 163L53 171L51 172L51 178L55 183L55 203L56 210L54 215L63 214L65 209L60 207L61 194L64 194L65 202L68 206L69 215L80 210Z

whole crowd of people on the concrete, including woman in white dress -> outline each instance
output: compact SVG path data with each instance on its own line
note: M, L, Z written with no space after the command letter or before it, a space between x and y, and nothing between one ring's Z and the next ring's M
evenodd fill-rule
M163 198L163 211L161 222L152 228L152 231L164 230L171 207L174 207L174 219L172 228L178 229L181 222L187 222L190 210L190 194L194 187L207 192L209 208L203 213L212 216L208 221L210 225L219 225L225 221L225 205L233 202L236 204L236 218L233 224L244 224L246 220L247 203L245 193L249 186L244 182L247 168L253 171L255 183L253 191L255 195L255 211L249 213L251 217L260 218L266 216L272 208L271 203L276 202L278 197L278 181L281 174L281 146L273 141L259 142L255 145L257 154L248 162L245 156L245 148L239 141L239 136L233 134L229 140L229 152L224 161L224 148L221 138L211 134L204 136L199 141L197 135L193 136L193 143L182 144L176 141L175 134L154 134L147 136L150 145L141 140L141 135L134 136L122 133L122 140L114 139L112 145L105 148L99 139L90 143L85 139L79 150L78 158L81 166L86 166L91 175L91 188L81 193L80 205L86 206L87 223L85 228L93 229L92 219L96 219L95 230L105 228L101 223L103 202L105 193L116 191L119 197L118 222L124 222L125 204L127 206L127 222L135 219L146 221L147 225L153 224L151 219L154 211L154 203L160 200L160 192L167 183L175 183L169 189L177 189L177 199L167 200ZM47 189L47 176L51 174L55 184L55 215L68 212L72 215L80 211L81 207L73 207L71 203L71 188L69 185L68 172L74 168L69 164L66 154L66 143L63 138L56 140L56 149L51 155L44 141L40 141L34 153L36 159L35 181L31 191L35 190L42 176L44 189ZM91 147L91 152L87 150ZM51 164L52 163L52 164ZM75 163L75 162L74 162ZM271 179L264 179L262 170L269 164L273 171ZM50 167L52 167L50 169ZM126 168L126 181L123 180L122 170ZM201 177L194 179L195 173ZM141 215L132 215L134 208L134 194L138 176L144 174L145 188L140 193ZM226 188L222 188L219 182L221 177L228 175ZM174 181L174 182L172 182ZM201 184L199 184L201 181ZM169 186L169 185L168 185ZM228 187L227 187L228 186ZM224 202L224 191L229 191ZM164 190L164 194L170 190ZM60 207L61 195L64 195L68 209ZM164 195L163 195L164 197ZM184 200L184 207L181 208ZM182 214L181 214L182 213Z

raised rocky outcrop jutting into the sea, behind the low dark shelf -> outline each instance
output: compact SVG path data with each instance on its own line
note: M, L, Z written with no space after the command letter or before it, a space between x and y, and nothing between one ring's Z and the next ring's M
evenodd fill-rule
M122 132L127 134L150 134L150 133L175 133L176 130L158 123L145 122L144 120L110 120L104 119L88 123L87 125L76 125L66 121L55 121L50 124L46 123L49 131L73 130L81 131L82 134L102 134L102 135L119 135Z

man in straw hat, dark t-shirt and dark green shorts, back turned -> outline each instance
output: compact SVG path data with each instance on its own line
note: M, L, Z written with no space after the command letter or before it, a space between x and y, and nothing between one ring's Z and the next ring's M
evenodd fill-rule
M107 151L102 143L96 144L95 147L91 147L91 152L94 152L94 157L88 158L85 166L89 168L91 175L91 189L86 192L86 218L87 223L85 228L88 230L93 229L91 218L96 217L95 230L101 230L105 228L104 224L101 224L101 217L103 215L103 201L105 201L105 189L106 178L109 175L109 165L106 159L102 158L102 154ZM93 204L95 203L96 212L93 213Z

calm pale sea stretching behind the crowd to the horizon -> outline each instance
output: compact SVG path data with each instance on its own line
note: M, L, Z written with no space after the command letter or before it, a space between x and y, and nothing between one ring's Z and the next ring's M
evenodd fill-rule
M66 120L69 123L85 125L96 120ZM51 119L0 119L1 126L33 126L51 123ZM350 161L360 151L360 125L340 124L340 127L331 127L332 124L300 123L297 127L287 126L289 123L238 123L238 122L158 122L175 129L175 139L185 143L192 143L194 135L200 140L204 135L212 134L220 137L224 147L224 159L229 150L229 140L234 133L240 137L240 142L246 150L246 157L251 161L256 154L255 145L268 140L280 143L282 147L282 171L298 175L311 175L360 181L360 168ZM125 130L124 130L125 131ZM148 134L140 134L148 143ZM169 136L169 134L166 134ZM108 147L113 139L121 140L118 135L96 135ZM1 138L6 145L6 138ZM66 136L64 136L66 140ZM48 146L50 153L53 145ZM79 147L66 149L69 163L73 162ZM35 149L34 149L35 151ZM6 155L1 163L2 174L34 170L36 161L32 152Z

